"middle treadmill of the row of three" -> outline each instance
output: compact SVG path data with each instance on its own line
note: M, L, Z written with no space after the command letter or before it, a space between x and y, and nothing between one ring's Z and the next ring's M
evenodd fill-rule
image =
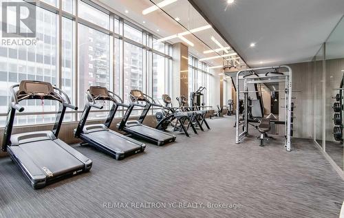
M100 86L89 87L86 94L88 102L85 105L78 127L74 129L74 136L82 139L86 144L111 155L111 157L114 157L116 160L121 160L129 155L143 152L146 148L145 144L109 129L118 107L129 107L122 103L123 101L120 96ZM120 102L118 102L116 98L118 98ZM109 116L105 124L85 125L87 116L92 107L103 109L103 106L96 105L96 100L108 100L113 102Z

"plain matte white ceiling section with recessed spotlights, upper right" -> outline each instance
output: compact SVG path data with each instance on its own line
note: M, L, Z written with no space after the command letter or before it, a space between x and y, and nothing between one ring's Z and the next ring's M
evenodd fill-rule
M229 6L226 0L193 3L250 67L311 61L344 14L343 0L235 0Z

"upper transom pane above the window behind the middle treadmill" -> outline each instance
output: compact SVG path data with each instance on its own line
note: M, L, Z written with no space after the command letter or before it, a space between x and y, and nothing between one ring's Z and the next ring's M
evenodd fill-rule
M83 1L78 1L78 16L86 21L90 21L96 25L100 25L105 29L109 29L110 27L110 16L109 14L105 14L100 10L89 6L87 3Z

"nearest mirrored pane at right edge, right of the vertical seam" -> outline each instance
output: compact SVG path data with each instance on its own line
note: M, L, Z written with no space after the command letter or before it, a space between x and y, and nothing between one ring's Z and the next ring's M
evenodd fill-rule
M325 151L343 170L344 19L325 43L325 60Z

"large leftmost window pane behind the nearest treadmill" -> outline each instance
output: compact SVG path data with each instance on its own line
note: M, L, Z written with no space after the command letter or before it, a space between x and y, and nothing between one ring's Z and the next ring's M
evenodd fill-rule
M0 64L1 76L0 113L7 113L10 98L9 88L20 83L21 80L44 80L56 84L56 14L36 8L37 19L37 41L36 46L18 45L16 47L1 47ZM25 107L25 112L32 111L55 111L55 102L51 100L23 100L21 105ZM36 123L41 123L42 115L30 116ZM47 119L49 116L45 115ZM28 124L25 116L17 116L14 124ZM1 126L5 124L5 119L1 119Z

